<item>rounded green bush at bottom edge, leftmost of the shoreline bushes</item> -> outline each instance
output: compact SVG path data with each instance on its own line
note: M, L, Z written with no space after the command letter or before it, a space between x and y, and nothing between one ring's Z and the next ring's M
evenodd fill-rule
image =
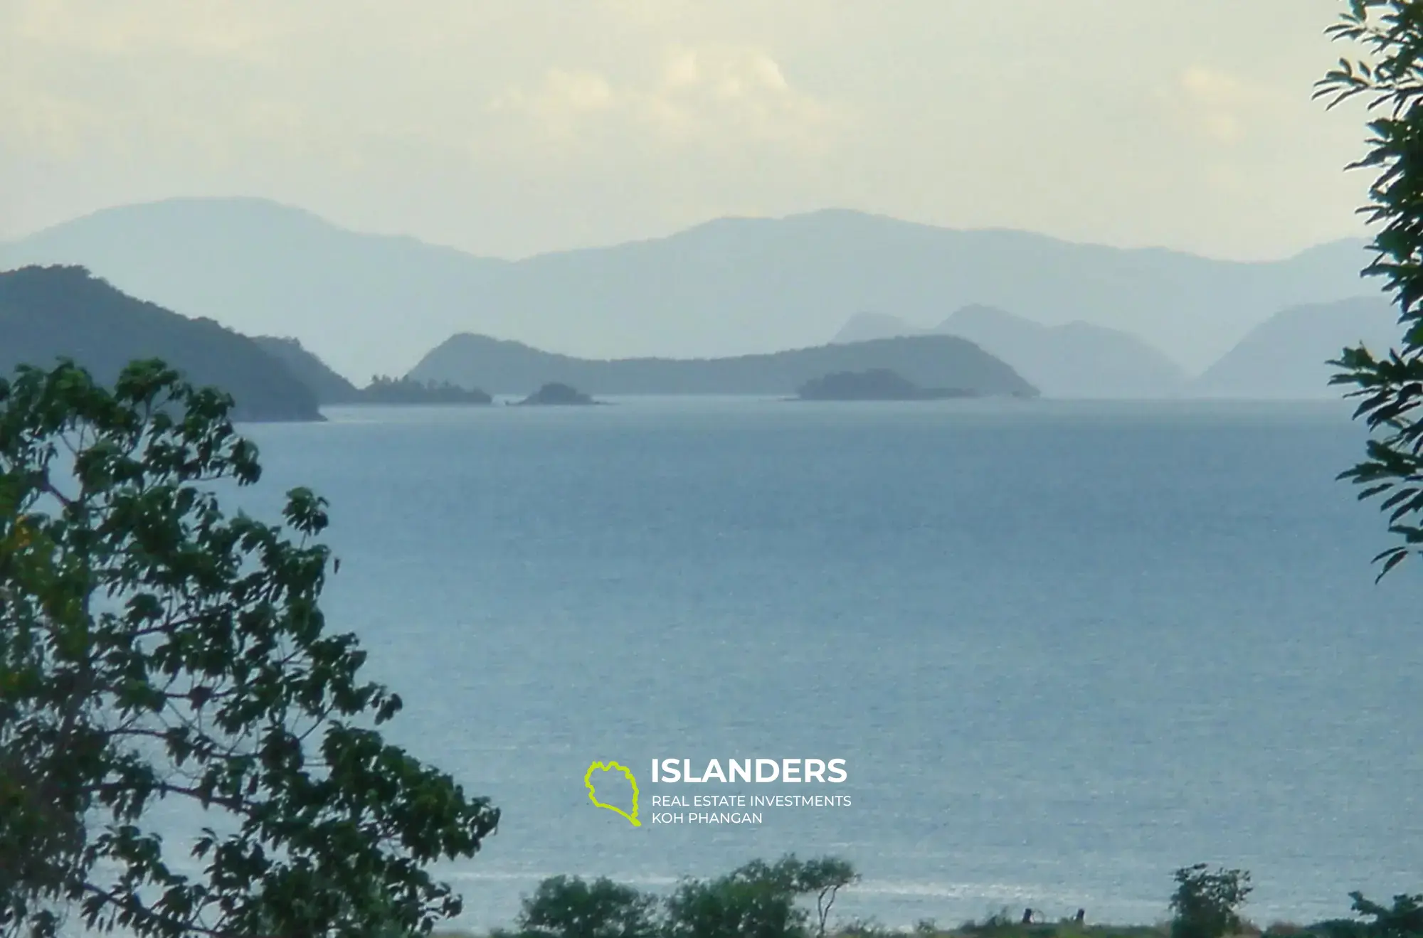
M519 929L539 938L653 938L657 900L608 878L556 875L524 900Z

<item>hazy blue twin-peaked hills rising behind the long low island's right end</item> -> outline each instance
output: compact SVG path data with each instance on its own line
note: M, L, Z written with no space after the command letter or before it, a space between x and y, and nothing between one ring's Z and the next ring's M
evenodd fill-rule
M1187 379L1178 364L1136 335L1089 323L1043 325L988 306L966 306L932 330L895 316L861 313L834 341L929 334L961 335L978 344L1053 398L1168 398L1180 394Z

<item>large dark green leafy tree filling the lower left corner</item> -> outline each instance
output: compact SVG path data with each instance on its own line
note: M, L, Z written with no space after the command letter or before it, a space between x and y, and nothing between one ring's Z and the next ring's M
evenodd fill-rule
M231 408L158 361L0 379L0 934L427 932L460 898L425 867L495 830L376 729L401 704L326 630L326 502L223 513L260 476ZM164 799L212 817L201 873Z

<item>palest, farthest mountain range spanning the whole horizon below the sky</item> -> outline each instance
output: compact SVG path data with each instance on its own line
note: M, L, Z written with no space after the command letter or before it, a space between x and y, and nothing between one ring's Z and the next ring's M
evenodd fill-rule
M361 381L457 333L586 358L729 357L822 343L857 310L938 323L969 304L1130 333L1197 372L1271 311L1376 291L1358 240L1235 263L848 210L508 262L258 199L172 199L0 246L0 267L30 262L83 263L168 308L295 335Z

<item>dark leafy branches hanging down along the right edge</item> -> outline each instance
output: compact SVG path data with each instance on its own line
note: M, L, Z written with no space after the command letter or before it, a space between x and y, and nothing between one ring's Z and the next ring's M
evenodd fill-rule
M1349 0L1328 30L1353 44L1316 85L1315 97L1333 108L1362 98L1372 115L1366 155L1350 169L1376 172L1370 205L1360 209L1380 226L1369 244L1366 276L1383 277L1399 307L1402 344L1375 357L1346 348L1329 364L1333 384L1355 385L1355 418L1370 431L1363 462L1340 473L1365 486L1359 497L1385 496L1389 530L1402 544L1385 550L1379 577L1423 549L1423 6L1413 0Z

